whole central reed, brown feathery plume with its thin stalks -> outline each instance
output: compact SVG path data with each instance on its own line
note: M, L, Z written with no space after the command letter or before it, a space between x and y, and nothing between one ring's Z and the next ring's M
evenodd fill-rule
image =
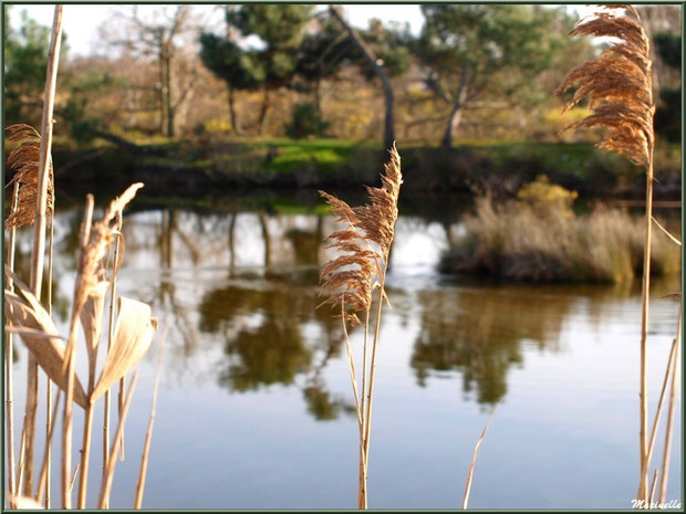
M343 324L360 438L358 508L367 507L367 457L381 315L384 302L388 302L384 285L398 214L398 193L401 183L403 183L401 157L395 145L389 154L391 159L381 176L382 187L366 187L370 203L351 208L344 201L320 191L337 217L336 221L343 224L341 230L328 238L331 241L331 248L335 248L342 254L329 261L322 270L321 294L326 295L328 300L320 306L331 305L339 311ZM375 311L375 317L370 357L367 342L372 310ZM364 319L364 343L362 381L358 387L357 368L347 335L347 326L360 325L360 316Z

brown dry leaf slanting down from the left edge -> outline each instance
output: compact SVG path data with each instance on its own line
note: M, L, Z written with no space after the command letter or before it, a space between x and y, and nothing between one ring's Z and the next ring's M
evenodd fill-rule
M45 374L64 390L66 377L62 373L62 367L64 365L65 347L58 334L58 328L48 312L41 306L25 284L13 274L11 276L23 297L11 291L4 291L7 319L13 326L37 332L19 331L18 333ZM86 395L79 378L76 378L74 385L74 401L83 408L87 403Z

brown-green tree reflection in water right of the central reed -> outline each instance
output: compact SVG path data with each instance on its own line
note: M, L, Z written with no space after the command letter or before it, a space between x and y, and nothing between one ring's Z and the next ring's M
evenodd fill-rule
M465 394L497 403L507 392L507 374L522 364L524 339L540 349L559 349L568 295L532 297L523 290L436 290L418 293L422 328L410 365L426 386L432 370L459 370ZM529 292L530 293L530 292Z

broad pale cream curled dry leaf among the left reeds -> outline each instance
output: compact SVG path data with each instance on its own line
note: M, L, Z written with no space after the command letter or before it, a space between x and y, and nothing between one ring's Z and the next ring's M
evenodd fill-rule
M153 342L157 319L150 317L150 306L137 300L121 296L112 347L91 395L95 401L143 358Z

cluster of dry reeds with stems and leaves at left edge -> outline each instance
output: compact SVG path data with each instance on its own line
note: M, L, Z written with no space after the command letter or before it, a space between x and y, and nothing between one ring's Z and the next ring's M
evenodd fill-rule
M54 210L54 185L52 159L52 113L55 95L58 56L61 40L62 6L55 6L55 15L51 36L45 78L45 96L41 134L28 125L8 127L8 139L18 145L11 151L8 165L15 170L12 186L11 211L6 222L9 231L8 259L4 269L6 290L6 332L8 336L18 334L29 354L29 382L27 388L27 409L18 462L14 458L13 427L13 379L11 337L7 337L7 449L8 449L8 504L12 508L50 507L50 463L53 444L55 419L62 407L61 439L61 478L60 487L62 507L71 508L72 491L79 474L77 506L85 507L89 479L90 450L93 428L93 411L96 401L107 395L110 388L133 370L145 355L153 340L157 322L152 317L150 307L142 302L116 297L118 306L116 323L111 323L108 348L104 364L97 369L97 355L101 345L105 295L112 291L115 302L115 277L123 259L122 211L135 197L142 183L131 186L124 193L113 200L101 220L93 221L94 199L86 198L85 214L81 225L79 268L72 298L72 313L69 335L59 334L52 321L52 214ZM33 241L31 253L30 285L25 285L13 273L15 231L23 225L32 225ZM43 254L45 251L45 232L49 229L48 246L48 286L43 300ZM115 243L116 242L116 243ZM122 248L119 249L119 243ZM111 251L116 246L111 262ZM113 306L111 306L113 313ZM113 315L111 315L113 319ZM77 332L83 326L89 360L87 381L76 376ZM159 373L159 369L158 369ZM48 384L45 445L38 473L33 471L33 448L35 439L35 411L39 407L38 381L44 374ZM108 504L112 478L117 461L117 452L123 445L123 428L133 397L133 387L137 373L128 387L126 399L121 403L116 436L112 444L107 430L108 406L105 408L105 427L103 430L104 469L102 472L98 507ZM58 395L51 397L51 384L58 386ZM84 387L84 384L86 385ZM157 387L157 380L156 386ZM61 405L61 399L63 402ZM54 405L54 407L52 407ZM80 463L72 468L73 409L74 405L85 410L83 441L80 448ZM154 410L154 406L153 406ZM139 507L145 481L145 462L149 449L152 423L146 436L141 476L137 484L136 503ZM34 486L38 484L37 486Z

